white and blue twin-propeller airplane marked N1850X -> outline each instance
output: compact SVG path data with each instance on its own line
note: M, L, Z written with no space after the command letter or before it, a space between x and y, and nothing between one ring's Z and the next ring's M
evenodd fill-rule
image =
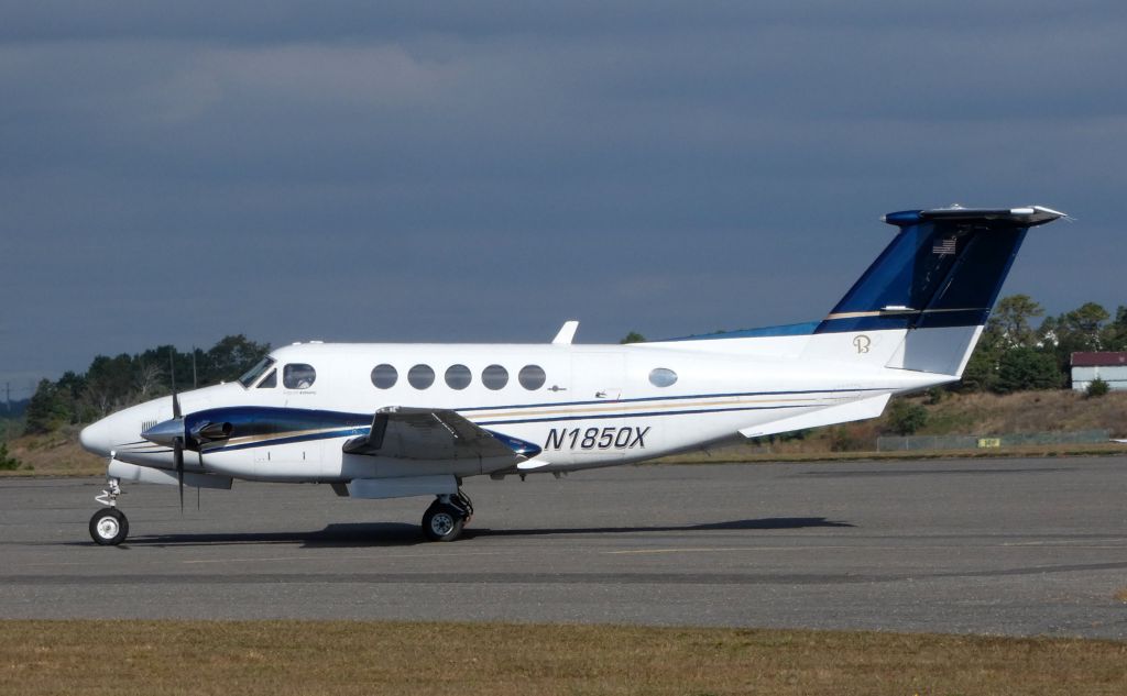
M238 381L88 427L108 457L90 536L128 535L122 482L230 489L327 483L360 499L434 497L421 529L458 538L469 476L614 466L733 438L876 418L894 394L960 378L1029 227L1064 213L889 213L897 232L819 321L627 345L294 343ZM175 381L174 381L175 384Z

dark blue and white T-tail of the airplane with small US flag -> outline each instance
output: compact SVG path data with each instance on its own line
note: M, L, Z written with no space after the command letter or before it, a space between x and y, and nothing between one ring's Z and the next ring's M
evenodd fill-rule
M937 208L885 215L899 233L817 325L804 358L958 378L1041 207Z

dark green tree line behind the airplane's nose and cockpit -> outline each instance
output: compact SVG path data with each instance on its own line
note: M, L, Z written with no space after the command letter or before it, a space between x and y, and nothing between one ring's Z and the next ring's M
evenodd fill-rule
M227 336L207 350L181 353L157 346L135 355L99 355L85 373L41 380L27 403L25 431L44 434L64 425L92 422L125 407L171 392L237 380L269 353L269 343Z

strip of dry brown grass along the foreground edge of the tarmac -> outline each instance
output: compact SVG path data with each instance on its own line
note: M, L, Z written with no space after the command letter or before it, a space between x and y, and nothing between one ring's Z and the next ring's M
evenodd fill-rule
M0 691L1116 694L1127 643L376 622L0 622Z

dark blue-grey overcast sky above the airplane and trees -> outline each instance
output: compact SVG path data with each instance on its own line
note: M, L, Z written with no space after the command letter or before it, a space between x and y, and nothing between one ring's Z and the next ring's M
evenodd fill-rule
M984 5L988 7L984 8ZM419 7L423 6L423 7ZM0 2L0 389L97 354L818 319L886 212L1041 204L1127 304L1127 5Z

